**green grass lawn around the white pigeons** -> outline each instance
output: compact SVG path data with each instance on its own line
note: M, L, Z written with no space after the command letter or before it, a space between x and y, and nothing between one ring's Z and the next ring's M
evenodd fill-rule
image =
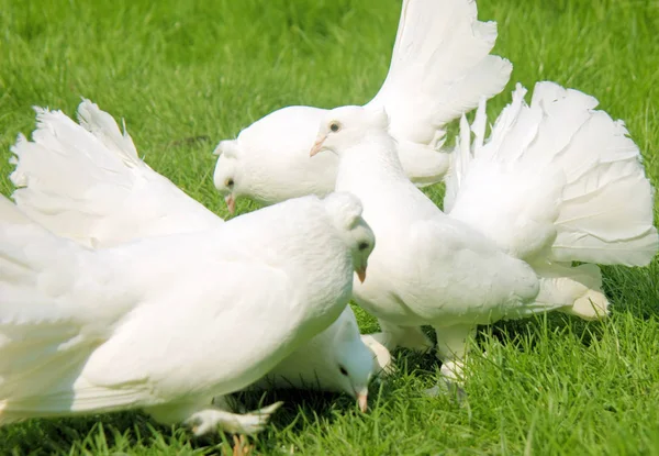
M581 89L625 120L659 182L656 0L481 0L479 9L499 22L496 52L515 65L491 113L515 81ZM72 114L85 96L125 119L156 170L226 216L211 182L214 145L286 104L367 101L387 73L398 14L393 0L0 0L0 148L8 158L16 134L33 130L32 105ZM0 191L9 194L11 167L0 162ZM439 202L440 189L429 193ZM399 374L373 386L368 414L347 398L269 393L267 401L287 404L254 441L256 451L659 454L659 260L604 271L614 303L605 322L549 315L483 329L466 403L424 397L437 365L403 351ZM376 329L362 312L359 319L365 331ZM226 448L224 435L193 440L139 413L0 430L0 454Z

